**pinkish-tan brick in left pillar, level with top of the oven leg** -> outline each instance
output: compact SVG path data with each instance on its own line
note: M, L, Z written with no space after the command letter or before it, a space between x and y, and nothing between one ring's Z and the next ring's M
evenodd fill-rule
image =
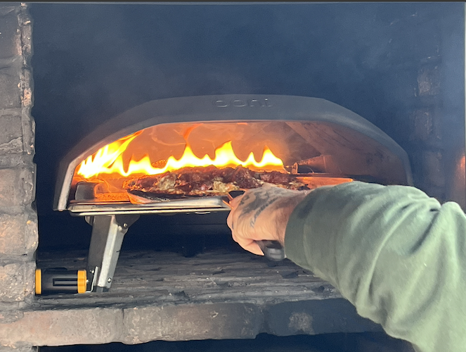
M26 210L22 214L0 214L0 255L32 256L37 249L37 214Z

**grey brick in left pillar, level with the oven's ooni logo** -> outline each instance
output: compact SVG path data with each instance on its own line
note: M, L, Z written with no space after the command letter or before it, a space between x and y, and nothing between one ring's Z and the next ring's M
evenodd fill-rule
M0 108L21 107L22 58L0 65Z

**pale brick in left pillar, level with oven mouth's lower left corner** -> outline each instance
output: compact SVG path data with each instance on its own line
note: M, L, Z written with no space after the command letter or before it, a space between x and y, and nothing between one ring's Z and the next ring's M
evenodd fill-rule
M35 197L34 167L0 170L0 205L29 206Z

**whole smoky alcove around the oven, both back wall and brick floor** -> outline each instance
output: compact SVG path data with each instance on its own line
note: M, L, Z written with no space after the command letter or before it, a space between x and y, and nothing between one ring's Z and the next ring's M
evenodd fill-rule
M331 101L373 123L408 153L416 187L441 201L464 204L465 182L457 168L465 150L460 8L436 3L31 4L38 265L85 268L91 227L53 210L59 161L98 125L154 99L270 94ZM358 319L335 289L311 273L243 253L230 238L225 218L226 213L141 218L123 243L124 266L117 268L113 291L37 301L58 310L123 307L134 316L134 308L143 307L151 312L146 315L151 323L162 317L157 309L164 306L169 311L164 318L173 320L158 332L138 326L133 335L124 330L124 337L93 343L380 329ZM260 268L254 272L256 282L242 274L236 258ZM138 276L134 263L145 268L145 276ZM179 264L176 270L173 263ZM288 291L273 298L283 280L291 283ZM193 282L198 286L186 289ZM254 284L270 296L238 288ZM231 287L228 296L225 289ZM325 299L312 301L309 295ZM208 315L210 310L202 313L205 303L223 307L238 324L208 325L204 335L200 331L207 325L202 324L191 333L169 331L175 322ZM195 308L188 310L190 305ZM249 308L250 313L238 313ZM293 311L311 316L313 329L281 324ZM251 325L242 330L239 321L245 317Z

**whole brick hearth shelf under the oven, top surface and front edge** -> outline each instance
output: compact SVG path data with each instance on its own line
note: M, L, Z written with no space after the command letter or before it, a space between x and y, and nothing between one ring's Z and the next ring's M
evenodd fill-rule
M85 268L84 252L39 253L39 268ZM0 323L0 345L141 344L381 331L328 282L284 260L226 250L120 255L104 294L37 296L24 316Z

